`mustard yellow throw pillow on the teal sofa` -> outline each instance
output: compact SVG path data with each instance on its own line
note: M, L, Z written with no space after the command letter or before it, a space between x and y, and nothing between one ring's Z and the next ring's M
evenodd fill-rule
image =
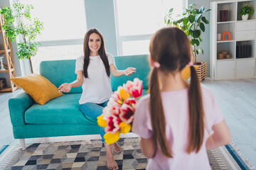
M64 94L58 91L46 77L40 74L30 74L24 77L15 77L11 81L20 86L31 98L41 105L44 105L53 98L58 98Z

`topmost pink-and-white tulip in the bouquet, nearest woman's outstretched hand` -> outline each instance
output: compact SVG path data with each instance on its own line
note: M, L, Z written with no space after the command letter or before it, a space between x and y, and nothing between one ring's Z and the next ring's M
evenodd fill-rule
M127 84L124 84L124 89L134 98L142 96L142 81L138 78L135 78L134 81L127 81Z

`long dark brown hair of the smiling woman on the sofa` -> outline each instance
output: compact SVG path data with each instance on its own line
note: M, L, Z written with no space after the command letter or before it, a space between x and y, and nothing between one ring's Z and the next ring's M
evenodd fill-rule
M105 66L107 77L110 77L110 64L107 60L107 54L106 54L106 50L105 50L105 41L102 36L102 33L100 33L100 30L97 30L97 28L90 28L89 30L87 30L87 33L85 33L84 45L83 45L84 55L85 55L83 72L84 72L85 78L88 78L87 68L90 63L90 48L89 48L88 42L89 42L90 35L92 33L97 33L97 35L100 36L101 45L100 45L100 49L99 49L99 55L100 55L100 58Z

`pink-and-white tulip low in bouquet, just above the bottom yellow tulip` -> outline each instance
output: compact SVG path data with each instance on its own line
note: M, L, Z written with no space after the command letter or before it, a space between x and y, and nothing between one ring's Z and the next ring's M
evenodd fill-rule
M107 116L107 127L105 128L105 132L115 133L120 130L119 124L121 120L117 118L115 115Z

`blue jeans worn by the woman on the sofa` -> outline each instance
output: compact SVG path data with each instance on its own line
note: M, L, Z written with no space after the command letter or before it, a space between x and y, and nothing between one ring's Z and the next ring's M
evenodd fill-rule
M79 109L80 109L80 111L82 111L82 113L89 116L90 118L97 119L98 116L102 115L103 108L105 108L107 106L108 101L109 100L107 100L101 104L90 103L90 102L80 104ZM104 135L105 135L105 130L104 130L104 128L100 127L100 136L102 137L102 142L106 143L105 139L104 139Z

